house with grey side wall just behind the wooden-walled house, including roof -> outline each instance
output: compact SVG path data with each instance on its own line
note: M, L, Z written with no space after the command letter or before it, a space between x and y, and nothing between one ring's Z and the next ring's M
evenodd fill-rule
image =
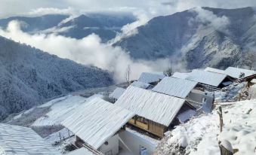
M153 88L153 91L186 99L190 104L202 105L205 112L211 112L214 102L213 93L204 92L199 83L185 79L166 77Z

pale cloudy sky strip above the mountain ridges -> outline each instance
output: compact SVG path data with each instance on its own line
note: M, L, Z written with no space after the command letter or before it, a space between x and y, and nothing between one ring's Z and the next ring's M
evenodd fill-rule
M207 3L205 3L207 2ZM88 11L143 11L149 16L171 14L197 6L242 8L255 0L0 0L0 17L20 14L72 13Z

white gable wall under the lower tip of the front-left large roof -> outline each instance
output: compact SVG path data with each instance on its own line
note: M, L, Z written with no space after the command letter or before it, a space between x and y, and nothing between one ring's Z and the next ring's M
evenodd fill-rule
M100 152L106 155L116 155L119 153L119 135L113 135L113 137L107 140L108 144L103 144L98 149Z

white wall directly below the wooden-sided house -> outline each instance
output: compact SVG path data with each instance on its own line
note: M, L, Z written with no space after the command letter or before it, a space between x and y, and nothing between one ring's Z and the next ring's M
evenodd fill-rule
M140 155L141 147L147 148L147 154L152 154L156 149L155 143L152 141L147 140L146 138L142 138L138 135L135 135L132 132L125 130L124 132L119 133L120 139L125 143L125 145L130 150L131 154ZM120 141L120 146L125 147L124 144Z

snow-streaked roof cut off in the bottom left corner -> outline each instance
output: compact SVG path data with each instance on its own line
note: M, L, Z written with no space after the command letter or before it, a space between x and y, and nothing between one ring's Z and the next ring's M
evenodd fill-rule
M60 154L32 129L4 123L0 123L0 147L7 155Z

